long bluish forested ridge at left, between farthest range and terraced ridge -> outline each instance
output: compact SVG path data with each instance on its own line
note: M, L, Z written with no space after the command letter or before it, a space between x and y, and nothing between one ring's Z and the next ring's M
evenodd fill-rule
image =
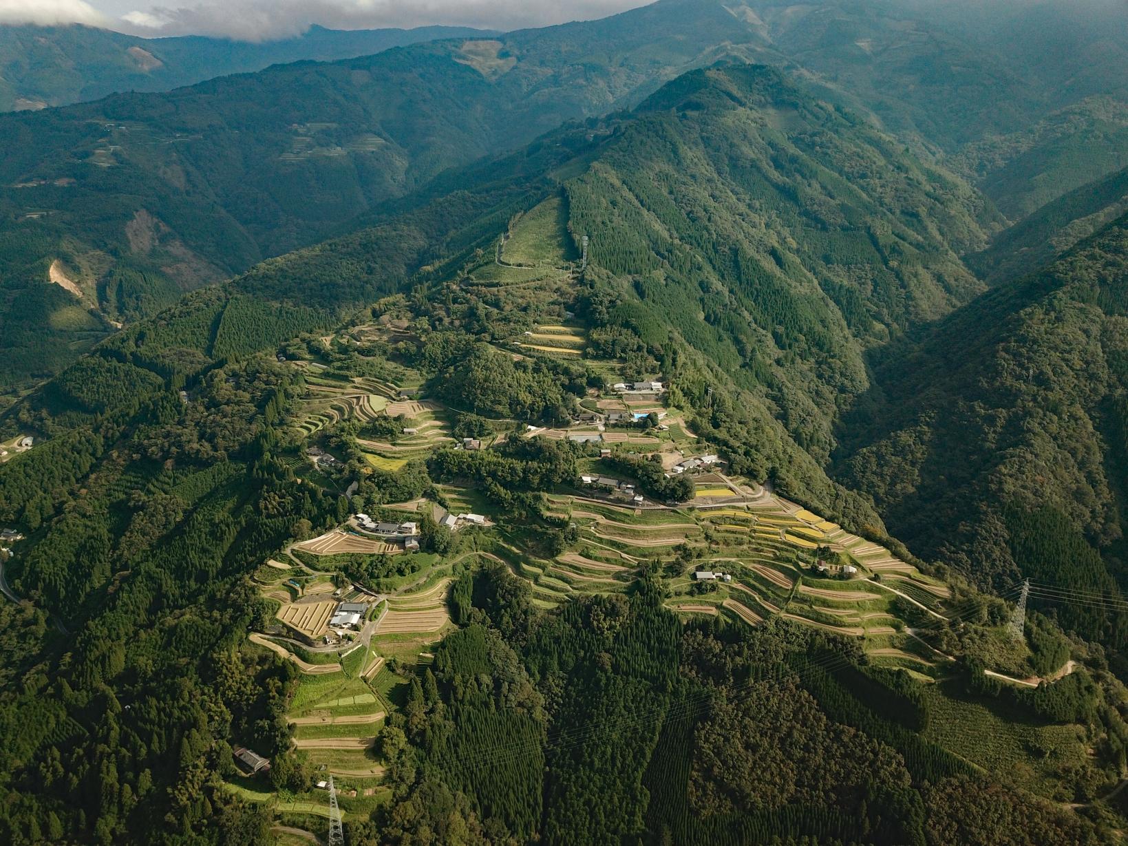
M688 37L679 29L687 14ZM68 346L55 309L41 308L37 289L55 262L82 292L73 305L135 320L347 229L444 168L641 97L640 88L712 61L732 37L752 36L719 5L669 0L501 39L2 115L11 155L0 162L0 308L25 303L29 331L20 337L39 341L9 347L12 368L0 385L44 378L68 350L72 358L89 345Z

